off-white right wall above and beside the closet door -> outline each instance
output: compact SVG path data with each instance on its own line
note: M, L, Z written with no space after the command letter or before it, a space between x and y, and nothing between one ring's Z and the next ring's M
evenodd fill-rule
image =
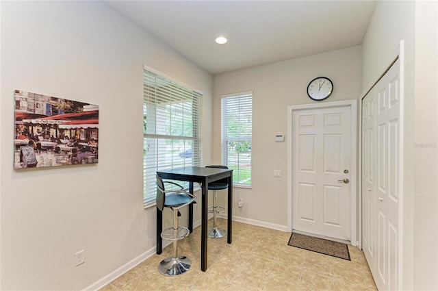
M438 290L437 26L435 1L378 1L362 45L365 89L404 40L404 290Z

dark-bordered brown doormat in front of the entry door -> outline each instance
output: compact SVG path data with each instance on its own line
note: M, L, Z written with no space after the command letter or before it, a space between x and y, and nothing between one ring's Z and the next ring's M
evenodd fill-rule
M292 233L288 244L300 249L307 249L308 251L315 251L316 253L323 253L324 255L331 255L332 257L351 261L348 246L342 242L332 242L323 238L313 238L312 236L305 236L300 233Z

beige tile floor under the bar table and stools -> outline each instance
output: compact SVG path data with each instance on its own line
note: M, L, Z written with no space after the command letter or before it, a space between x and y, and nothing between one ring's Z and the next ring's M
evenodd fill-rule
M209 221L211 223L211 220ZM226 228L226 220L218 225ZM233 223L233 243L209 239L208 269L201 271L201 228L179 241L179 254L192 268L175 277L158 273L172 244L101 291L128 290L377 290L363 252L348 246L351 261L288 246L291 233Z

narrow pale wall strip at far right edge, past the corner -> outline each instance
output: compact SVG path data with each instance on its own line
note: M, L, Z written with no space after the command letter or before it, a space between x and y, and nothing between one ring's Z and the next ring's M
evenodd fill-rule
M415 3L414 112L415 259L413 269L416 290L438 290L437 97L438 2L418 1Z

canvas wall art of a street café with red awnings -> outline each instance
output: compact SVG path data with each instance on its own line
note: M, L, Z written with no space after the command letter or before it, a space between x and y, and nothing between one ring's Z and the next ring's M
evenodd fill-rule
M98 105L21 90L14 99L14 169L98 162Z

